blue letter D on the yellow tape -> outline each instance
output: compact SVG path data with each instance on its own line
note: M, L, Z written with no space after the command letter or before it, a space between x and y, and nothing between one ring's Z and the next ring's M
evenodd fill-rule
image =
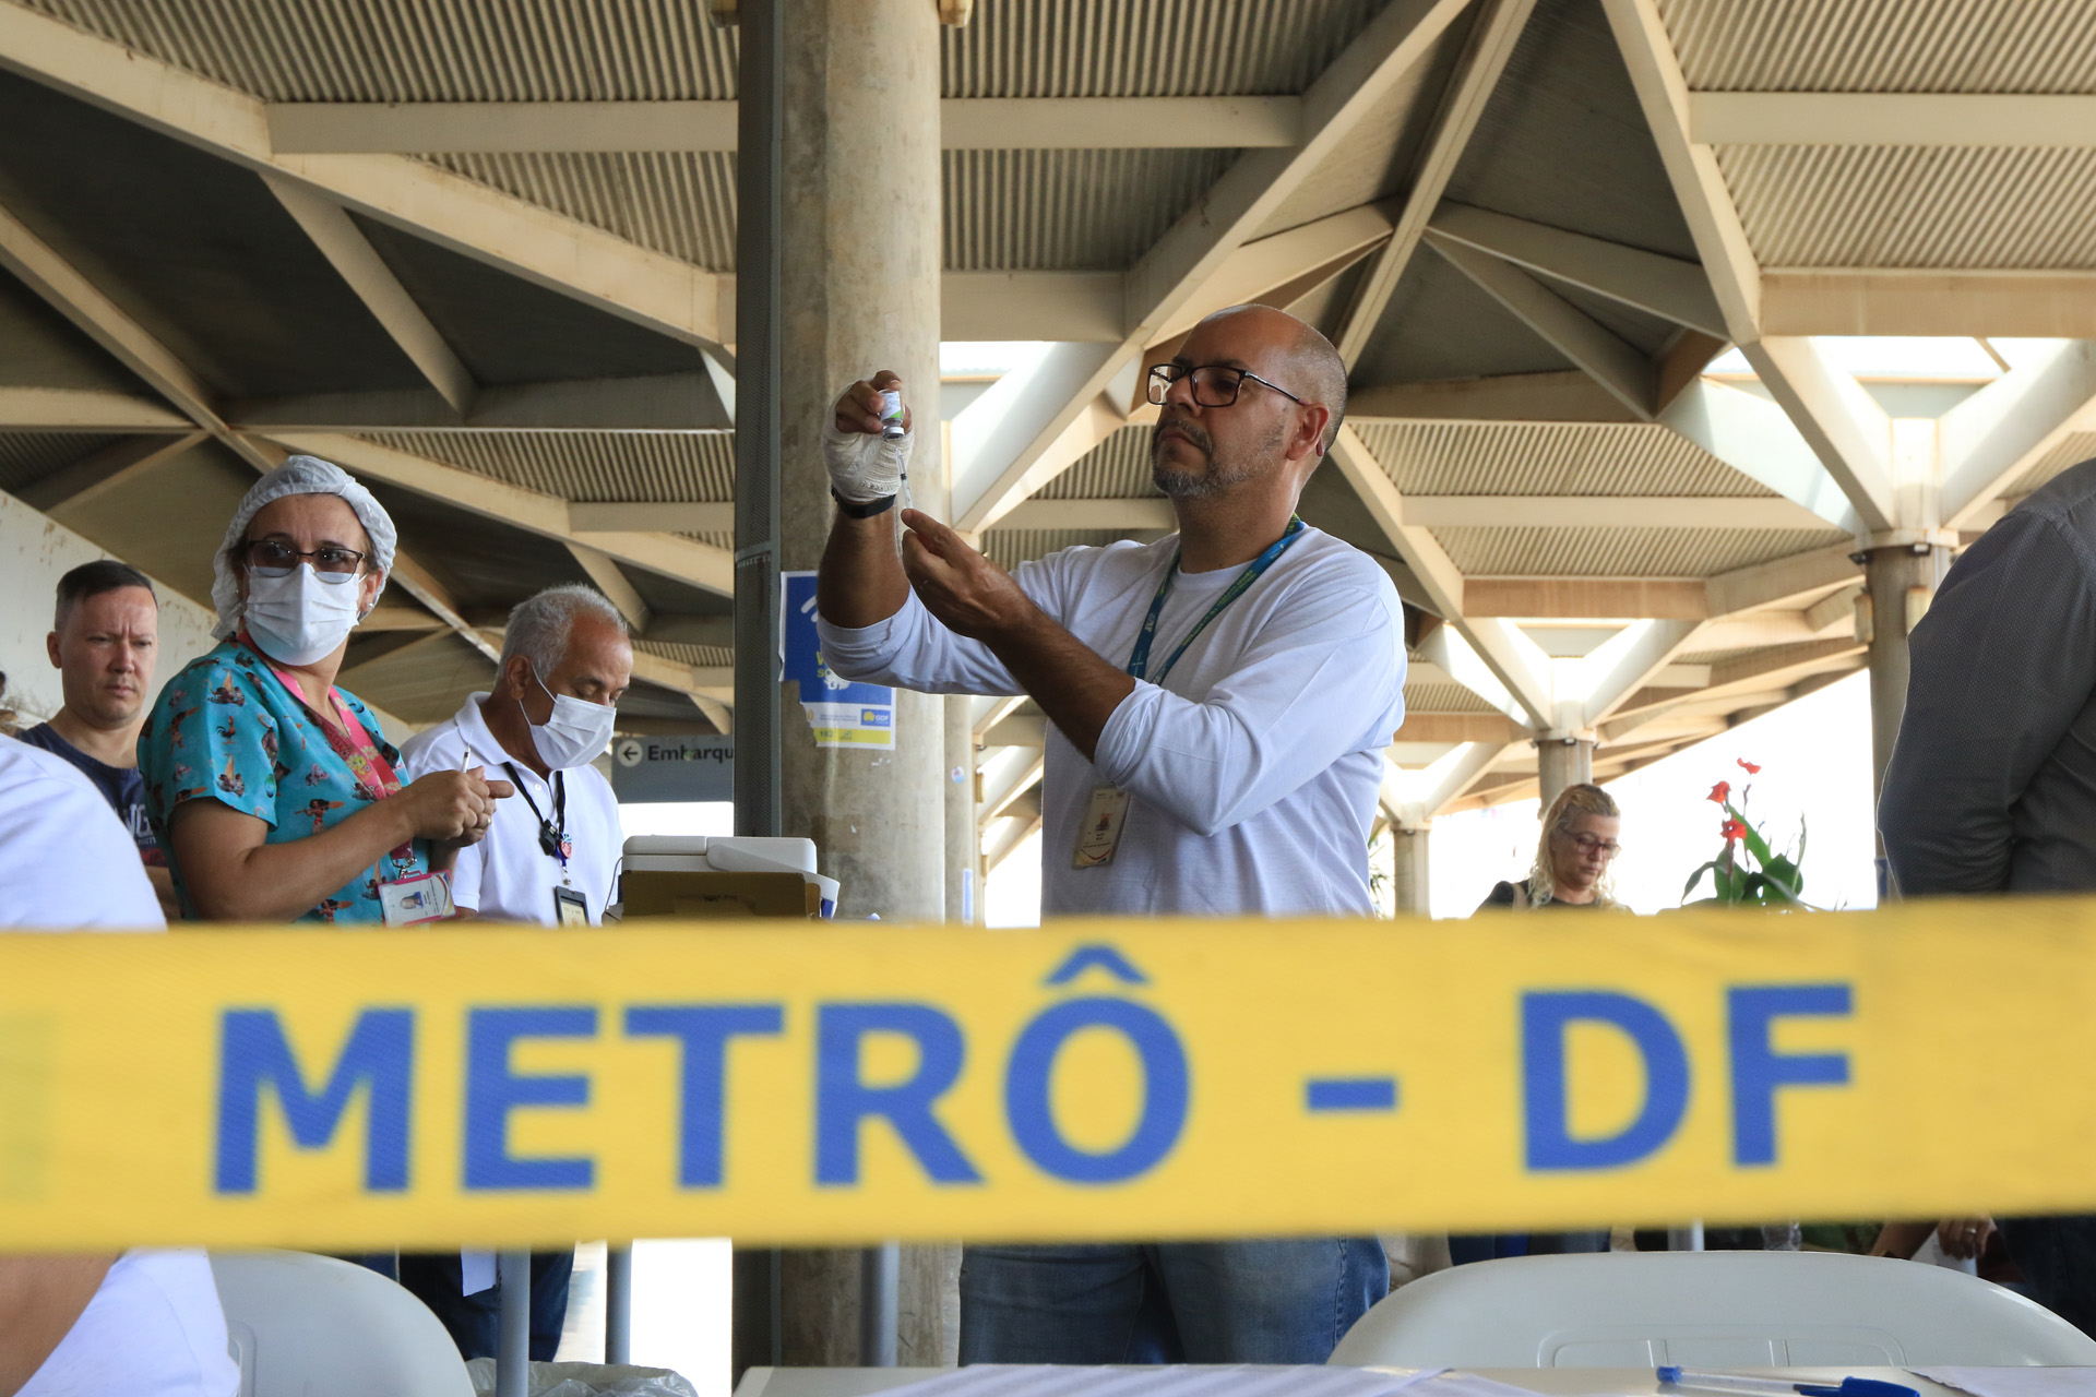
M1645 1060L1645 1102L1614 1135L1574 1139L1566 1112L1566 1028L1608 1024ZM1618 1169L1658 1152L1689 1108L1689 1054L1666 1016L1614 991L1534 991L1522 995L1522 1095L1528 1167Z

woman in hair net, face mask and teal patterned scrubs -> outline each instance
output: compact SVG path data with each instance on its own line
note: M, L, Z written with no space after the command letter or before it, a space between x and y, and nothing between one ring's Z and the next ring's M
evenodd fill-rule
M214 559L220 645L168 681L138 733L184 917L451 915L444 873L511 788L478 767L409 781L377 718L335 687L392 559L392 519L327 461L291 457L241 498Z

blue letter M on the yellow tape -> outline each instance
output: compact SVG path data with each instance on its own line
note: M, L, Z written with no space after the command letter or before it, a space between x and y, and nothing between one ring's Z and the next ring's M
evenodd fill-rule
M413 1074L413 1010L358 1014L319 1093L306 1089L275 1010L226 1010L218 1037L218 1192L256 1192L262 1087L275 1087L300 1150L325 1150L350 1095L365 1087L365 1188L373 1194L407 1190Z

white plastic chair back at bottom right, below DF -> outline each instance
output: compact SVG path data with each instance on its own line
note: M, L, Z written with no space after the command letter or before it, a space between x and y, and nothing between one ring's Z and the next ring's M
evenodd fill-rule
M1333 1363L1402 1368L2096 1366L2096 1340L1972 1276L1840 1252L1595 1252L1436 1271Z

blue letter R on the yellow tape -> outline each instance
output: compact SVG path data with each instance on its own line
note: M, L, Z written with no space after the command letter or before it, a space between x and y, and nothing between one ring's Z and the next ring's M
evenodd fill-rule
M910 1081L870 1087L859 1074L866 1035L912 1039ZM815 1183L859 1181L859 1127L880 1116L935 1183L981 1183L933 1108L960 1081L966 1045L947 1014L926 1003L826 1003L815 1010Z

